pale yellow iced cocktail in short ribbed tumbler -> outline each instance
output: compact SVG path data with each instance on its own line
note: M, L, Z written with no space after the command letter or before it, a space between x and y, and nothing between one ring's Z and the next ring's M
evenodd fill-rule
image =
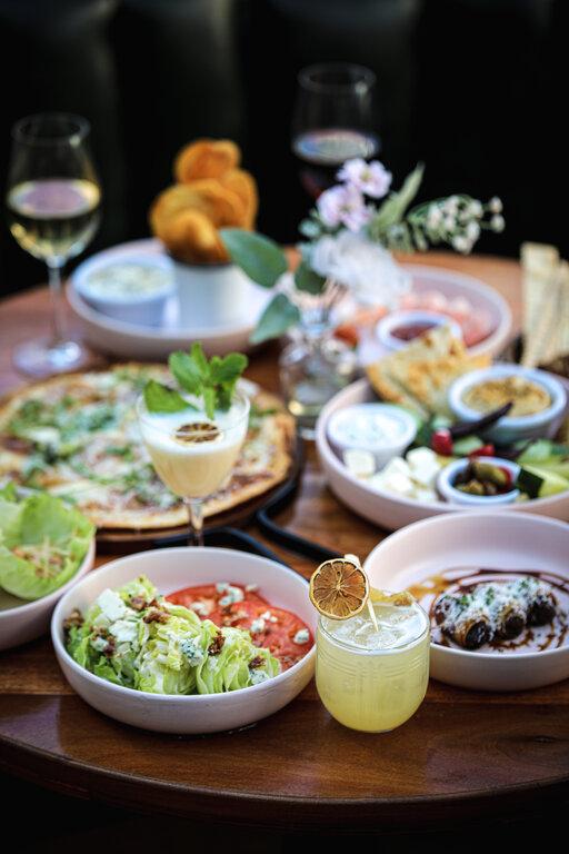
M326 708L352 729L395 729L420 706L429 682L430 630L413 602L373 604L349 619L320 617L316 684Z

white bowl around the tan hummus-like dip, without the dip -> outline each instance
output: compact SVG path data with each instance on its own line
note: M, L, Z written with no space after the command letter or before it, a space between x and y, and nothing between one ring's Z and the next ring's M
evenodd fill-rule
M448 401L453 414L461 421L477 421L485 413L471 409L463 401L463 396L472 386L500 377L522 377L546 389L550 405L533 415L517 417L505 416L485 430L485 436L501 445L509 445L519 439L551 438L559 427L567 406L567 394L561 383L551 374L520 365L492 365L489 368L472 370L456 379L449 389ZM496 407L498 408L498 407Z

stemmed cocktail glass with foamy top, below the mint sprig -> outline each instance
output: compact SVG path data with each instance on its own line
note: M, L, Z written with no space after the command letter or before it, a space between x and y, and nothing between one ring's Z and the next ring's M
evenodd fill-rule
M203 545L203 502L231 473L249 425L249 398L234 393L230 409L208 418L200 401L180 413L149 413L141 396L137 413L156 471L188 508L188 545Z

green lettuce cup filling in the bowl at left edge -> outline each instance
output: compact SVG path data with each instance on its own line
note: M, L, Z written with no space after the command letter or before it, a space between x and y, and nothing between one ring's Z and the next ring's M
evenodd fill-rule
M0 588L20 599L48 596L79 569L94 526L46 494L18 497L0 490Z

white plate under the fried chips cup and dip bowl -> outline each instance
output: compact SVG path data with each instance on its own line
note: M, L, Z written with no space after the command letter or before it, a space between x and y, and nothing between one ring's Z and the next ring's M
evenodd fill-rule
M109 261L140 261L164 256L159 240L133 240L106 249L92 256L84 264L108 264ZM204 350L223 355L230 350L249 350L249 336L272 294L251 282L243 318L239 324L204 327L180 327L178 322L177 297L170 298L161 326L128 324L102 315L89 306L73 286L73 279L81 275L81 265L74 270L67 290L74 315L79 318L83 338L97 350L121 358L164 359L176 349L187 348L192 341L202 341Z

